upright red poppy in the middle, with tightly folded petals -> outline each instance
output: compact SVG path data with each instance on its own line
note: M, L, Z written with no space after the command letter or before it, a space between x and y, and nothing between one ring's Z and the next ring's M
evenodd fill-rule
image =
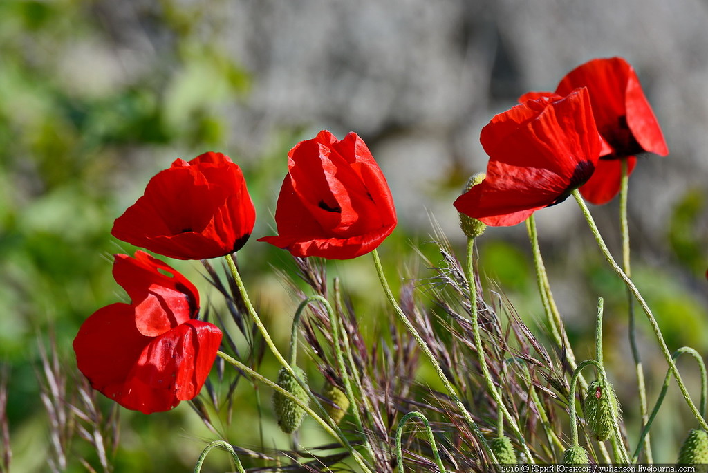
M393 232L391 191L356 133L338 140L323 130L287 156L275 209L278 235L258 241L294 256L349 259L369 253Z

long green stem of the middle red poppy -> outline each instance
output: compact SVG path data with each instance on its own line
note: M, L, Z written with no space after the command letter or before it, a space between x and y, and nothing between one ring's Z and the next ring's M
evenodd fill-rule
M452 384L450 383L450 380L447 379L447 376L445 376L445 372L442 371L442 367L440 367L440 363L438 363L438 360L435 359L435 355L433 355L433 352L430 351L430 347L428 347L426 342L423 340L421 334L418 334L416 327L411 324L411 321L408 319L408 317L406 317L406 314L404 314L403 309L401 309L401 306L399 306L399 303L396 301L396 297L394 297L394 294L391 291L391 287L389 286L389 283L387 282L386 277L384 276L384 268L382 268L381 266L379 253L374 250L371 254L374 258L374 266L376 267L376 273L379 276L379 281L381 282L381 286L384 290L384 293L386 294L387 300L394 308L396 314L399 316L399 319L401 319L401 322L403 322L403 324L406 326L406 329L413 336L413 338L416 339L416 343L418 343L418 346L421 348L421 351L423 351L423 353L426 355L426 358L428 358L430 365L433 365L435 373L437 373L438 377L440 378L440 381L442 381L442 384L445 386L445 389L447 389L448 394L450 394L450 397L455 402L455 405L457 405L457 409L459 409L460 414L462 414L464 420L467 421L467 425L469 426L469 428L472 429L472 431L476 435L476 438L477 440L479 440L479 443L481 443L482 447L484 448L484 451L487 455L489 455L491 462L496 464L496 455L494 455L494 452L491 450L489 443L486 441L484 435L482 435L481 431L479 430L479 426L477 426L477 423L469 414L467 408L465 408L464 404L462 404L462 401L459 400L457 391L454 387L452 387ZM529 457L528 460L529 462L533 462L532 457Z

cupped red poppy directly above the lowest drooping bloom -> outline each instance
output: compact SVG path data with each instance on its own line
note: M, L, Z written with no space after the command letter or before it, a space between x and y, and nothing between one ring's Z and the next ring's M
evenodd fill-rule
M216 258L241 249L255 221L241 169L210 152L157 173L111 234L171 258Z

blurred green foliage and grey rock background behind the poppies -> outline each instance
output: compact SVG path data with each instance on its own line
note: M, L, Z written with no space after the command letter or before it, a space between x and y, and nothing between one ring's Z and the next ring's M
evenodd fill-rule
M290 311L278 306L285 288L270 266L290 261L255 241L272 232L290 147L325 128L365 139L399 212L399 228L382 246L395 276L416 258L410 242L430 239L431 220L461 247L452 201L486 166L481 127L521 93L553 90L595 57L634 65L670 149L666 158L641 159L630 181L634 275L670 348L705 352L707 24L702 0L1 0L0 362L13 471L49 471L38 346L55 339L73 370L81 321L125 298L110 254L133 249L110 227L154 173L208 150L244 169L258 221L239 258L257 298L273 314ZM592 210L619 254L617 200ZM595 298L603 295L607 346L616 348L607 354L610 370L629 386L620 399L632 397L622 286L571 200L537 219L571 337L590 350ZM489 229L479 250L484 275L523 317L537 319L523 225ZM349 285L366 291L370 261L347 264ZM209 297L197 265L175 265ZM280 317L287 343L291 313ZM641 330L653 402L665 368L652 369L658 355ZM186 403L166 414L120 415L116 471L193 468L210 438ZM253 418L244 422L235 409L232 440L240 433L249 447L255 440L244 431ZM684 428L670 418L658 427L679 436ZM72 448L91 460L90 449ZM657 448L658 460L673 461L674 450Z

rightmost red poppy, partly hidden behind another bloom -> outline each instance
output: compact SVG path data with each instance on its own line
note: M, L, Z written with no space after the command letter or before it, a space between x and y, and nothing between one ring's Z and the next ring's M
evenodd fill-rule
M576 87L587 87L595 123L609 149L600 153L595 173L581 194L593 204L604 204L619 192L622 166L628 159L628 173L636 164L636 154L668 154L661 128L641 90L634 68L621 57L593 59L569 72L556 88L564 95ZM610 162L607 162L610 161Z

